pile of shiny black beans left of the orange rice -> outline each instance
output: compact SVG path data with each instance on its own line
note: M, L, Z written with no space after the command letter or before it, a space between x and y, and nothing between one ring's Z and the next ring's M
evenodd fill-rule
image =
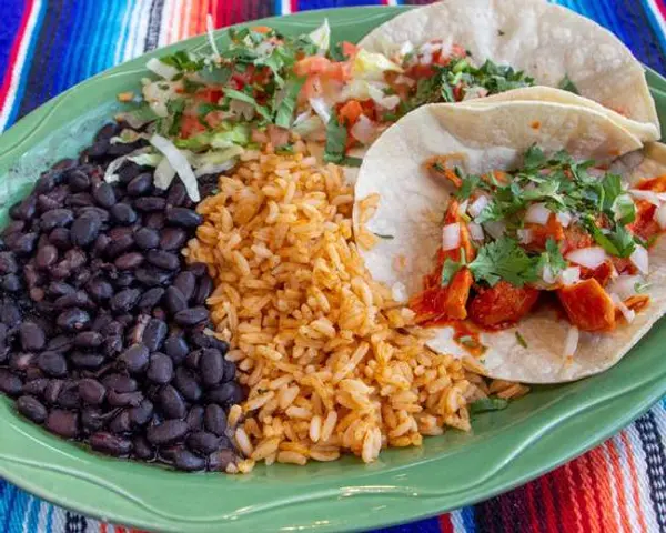
M210 336L213 282L181 249L201 217L180 180L153 187L108 124L78 161L42 173L0 235L0 391L27 419L119 457L183 471L236 460L243 399L229 346ZM210 190L210 189L209 189Z

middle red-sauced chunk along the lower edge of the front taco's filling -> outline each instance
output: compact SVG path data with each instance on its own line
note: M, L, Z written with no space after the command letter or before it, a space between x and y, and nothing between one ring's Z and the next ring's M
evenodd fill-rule
M502 329L525 316L538 300L539 291L500 281L481 289L470 302L470 318L487 329Z

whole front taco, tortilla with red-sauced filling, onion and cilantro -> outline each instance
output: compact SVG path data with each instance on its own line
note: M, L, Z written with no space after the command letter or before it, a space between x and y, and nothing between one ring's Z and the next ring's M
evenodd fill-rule
M666 149L593 109L425 105L370 148L355 198L372 275L490 376L595 374L666 311Z

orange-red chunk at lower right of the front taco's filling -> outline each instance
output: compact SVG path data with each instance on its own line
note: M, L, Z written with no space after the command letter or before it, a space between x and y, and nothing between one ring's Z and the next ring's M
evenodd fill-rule
M572 324L582 331L613 331L615 304L594 278L563 286L557 298Z

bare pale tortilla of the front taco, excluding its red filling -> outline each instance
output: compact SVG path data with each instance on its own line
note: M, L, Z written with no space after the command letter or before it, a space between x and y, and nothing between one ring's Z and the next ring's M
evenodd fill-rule
M534 128L538 122L541 127ZM533 143L546 152L567 150L576 158L609 161L629 181L666 173L666 149L638 139L604 113L552 102L505 102L487 105L432 104L417 109L390 128L369 150L355 185L354 231L359 231L359 202L379 193L376 212L364 227L377 239L361 250L377 281L408 298L422 290L442 239L442 219L452 192L432 179L423 162L447 154L466 172L519 168L521 157ZM396 269L404 258L404 269ZM663 266L660 266L663 265ZM482 358L487 375L526 383L572 381L608 369L649 330L666 311L666 240L650 250L647 281L652 303L632 324L607 334L581 333L573 361L563 358L569 324L543 308L517 328L482 333L487 346ZM400 288L400 290L397 290ZM527 343L516 339L519 331ZM433 328L430 346L456 356L465 350L452 340L451 328Z

